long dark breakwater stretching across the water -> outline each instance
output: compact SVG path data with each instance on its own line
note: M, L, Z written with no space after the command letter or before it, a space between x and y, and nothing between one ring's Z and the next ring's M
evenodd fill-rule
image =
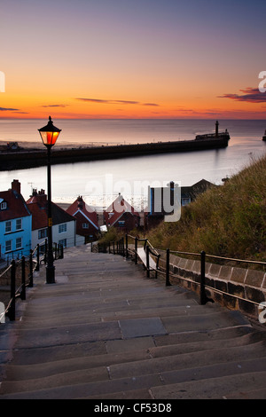
M219 149L228 146L229 137L204 138L175 142L156 142L133 145L91 146L60 149L55 146L51 151L51 164L75 163L82 161L100 161L133 156L145 156L158 153L180 153ZM0 171L42 167L47 164L47 153L43 150L20 150L0 153Z

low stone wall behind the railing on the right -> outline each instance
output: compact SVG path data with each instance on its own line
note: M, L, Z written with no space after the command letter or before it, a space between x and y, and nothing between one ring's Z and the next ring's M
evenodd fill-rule
M161 254L160 264L165 266L165 254ZM170 254L170 273L175 274L177 284L200 294L200 256L195 261ZM262 311L258 310L258 304L266 301L265 272L206 262L205 277L208 297L231 310L258 319Z

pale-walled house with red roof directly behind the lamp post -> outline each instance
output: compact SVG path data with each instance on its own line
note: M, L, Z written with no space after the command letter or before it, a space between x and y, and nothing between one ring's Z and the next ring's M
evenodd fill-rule
M33 190L27 200L27 208L32 214L32 248L37 244L42 248L47 237L47 195L44 190ZM75 235L75 218L66 213L57 204L51 202L52 241L69 248L77 244ZM82 241L83 242L83 241ZM79 243L82 243L79 242Z

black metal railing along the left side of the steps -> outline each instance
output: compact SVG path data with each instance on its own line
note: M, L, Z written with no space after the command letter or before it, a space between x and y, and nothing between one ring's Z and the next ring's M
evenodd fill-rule
M8 317L11 321L15 320L16 316L16 299L26 300L26 288L34 286L34 271L39 271L40 264L43 262L46 264L46 248L47 241L44 243L43 258L40 254L40 245L37 244L35 249L31 249L29 256L22 256L20 260L12 259L11 264L0 274L0 279L10 275L10 301L7 304L4 312L0 314L0 323L4 317ZM54 257L55 259L61 259L64 257L63 245L54 244ZM20 277L18 277L18 271L20 268ZM26 281L26 271L27 281ZM20 280L20 287L17 287Z

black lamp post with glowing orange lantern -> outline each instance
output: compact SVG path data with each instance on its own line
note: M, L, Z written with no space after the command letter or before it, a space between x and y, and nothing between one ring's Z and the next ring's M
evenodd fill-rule
M54 146L57 138L59 138L60 129L56 128L49 116L49 122L42 129L39 129L43 145L47 148L47 216L48 216L48 253L47 253L47 265L46 265L46 284L54 284L54 271L52 254L52 218L51 218L51 146Z

